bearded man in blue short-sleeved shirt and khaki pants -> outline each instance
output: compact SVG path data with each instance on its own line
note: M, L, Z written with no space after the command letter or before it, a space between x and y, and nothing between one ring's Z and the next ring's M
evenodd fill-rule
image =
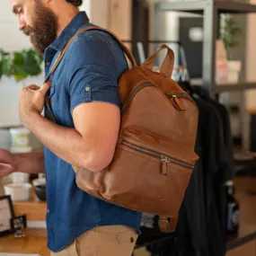
M19 29L44 55L45 76L76 31L92 26L82 0L10 0ZM101 13L99 13L101 15ZM78 35L50 82L31 84L19 95L23 125L44 152L12 154L0 149L0 176L46 173L48 247L52 255L129 256L140 213L111 205L79 190L72 165L102 172L119 136L118 80L128 63L118 42L103 31ZM40 113L48 96L57 123Z

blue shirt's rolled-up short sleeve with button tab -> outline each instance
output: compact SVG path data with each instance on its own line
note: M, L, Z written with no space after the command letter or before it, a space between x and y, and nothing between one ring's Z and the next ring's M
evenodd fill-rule
M120 107L117 64L112 41L102 37L78 38L68 52L71 113L85 102L108 102Z

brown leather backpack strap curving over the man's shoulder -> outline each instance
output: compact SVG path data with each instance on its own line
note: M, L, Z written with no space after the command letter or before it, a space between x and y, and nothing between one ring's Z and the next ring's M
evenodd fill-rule
M115 38L115 40L117 40L119 42L119 45L120 47L123 49L124 53L126 54L126 56L128 57L129 61L131 62L131 64L133 66L137 66L137 62L136 62L136 59L135 57L133 57L131 51L128 49L128 47L126 47L120 40L119 38L111 31L108 31L108 30L105 30L105 29L102 29L102 28L99 28L99 27L96 27L96 26L91 26L91 27L87 27L87 28L84 28L84 29L81 29L79 31L77 31L75 33L75 35L67 41L66 43L66 46L64 47L64 49L59 53L54 65L52 66L50 72L49 72L49 75L47 76L46 80L45 80L45 83L49 80L49 77L50 75L52 75L55 70L57 69L57 66L59 65L59 63L61 62L62 58L65 56L66 54L66 50L68 49L68 47L71 45L72 41L75 40L75 38L79 35L79 34L82 34L86 31L92 31L92 30L98 30L98 31L105 31L107 33L109 33L112 37Z

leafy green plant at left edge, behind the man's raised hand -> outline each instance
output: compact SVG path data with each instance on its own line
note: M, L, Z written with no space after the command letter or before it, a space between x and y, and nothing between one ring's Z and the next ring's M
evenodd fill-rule
M43 57L34 49L24 49L12 53L0 49L0 79L2 76L15 78L25 84L28 76L40 75Z

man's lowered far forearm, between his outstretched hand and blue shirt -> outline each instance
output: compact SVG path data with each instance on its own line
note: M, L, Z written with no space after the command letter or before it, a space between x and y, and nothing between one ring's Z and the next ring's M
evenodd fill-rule
M31 174L44 173L44 152L37 151L25 154L15 154L18 170Z

